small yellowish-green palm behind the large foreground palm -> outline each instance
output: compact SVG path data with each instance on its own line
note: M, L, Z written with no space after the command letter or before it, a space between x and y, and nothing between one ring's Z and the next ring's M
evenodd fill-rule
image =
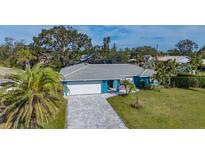
M35 57L31 51L22 49L17 52L17 58L18 63L24 63L26 65L26 69L30 69L30 61Z

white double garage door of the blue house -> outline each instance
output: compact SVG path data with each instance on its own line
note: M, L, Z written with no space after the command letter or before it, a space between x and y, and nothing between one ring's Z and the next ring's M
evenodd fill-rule
M69 82L68 95L99 94L101 93L101 81Z

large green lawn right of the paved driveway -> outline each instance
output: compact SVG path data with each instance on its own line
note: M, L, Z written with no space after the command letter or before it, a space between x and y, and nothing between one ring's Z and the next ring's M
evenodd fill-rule
M108 99L128 128L205 128L205 89L140 91L143 107L134 109L130 96Z

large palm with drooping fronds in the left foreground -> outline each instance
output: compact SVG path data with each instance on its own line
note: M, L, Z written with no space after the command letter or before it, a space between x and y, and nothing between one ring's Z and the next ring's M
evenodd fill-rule
M0 96L0 118L6 128L37 128L54 118L62 105L62 85L59 73L35 65L32 69L5 76Z

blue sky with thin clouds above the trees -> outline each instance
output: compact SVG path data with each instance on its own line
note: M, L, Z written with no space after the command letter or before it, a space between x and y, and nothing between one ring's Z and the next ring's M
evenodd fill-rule
M32 37L38 35L42 28L52 26L0 26L0 43L5 37L13 37L16 40L32 41ZM166 51L175 47L181 39L191 39L205 45L205 26L73 26L82 33L92 38L92 43L102 44L105 36L110 36L112 42L118 48L138 47L150 45L159 46L159 50Z

